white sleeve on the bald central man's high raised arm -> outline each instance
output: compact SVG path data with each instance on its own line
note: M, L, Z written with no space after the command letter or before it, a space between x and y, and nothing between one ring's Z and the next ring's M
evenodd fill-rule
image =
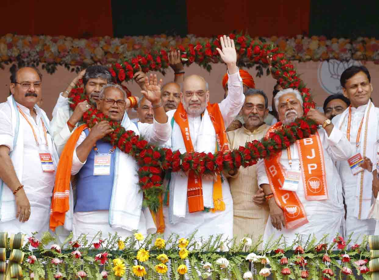
M240 70L237 70L237 72L232 75L228 73L228 76L228 95L226 99L218 104L222 117L224 117L225 127L228 127L236 118L245 102Z

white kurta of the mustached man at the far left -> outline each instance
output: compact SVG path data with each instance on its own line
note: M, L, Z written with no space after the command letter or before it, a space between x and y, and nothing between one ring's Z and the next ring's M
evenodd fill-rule
M30 111L21 104L22 112L28 118L29 122L33 126L33 129L37 135L37 139L41 148L46 148L46 141L44 136L44 130L42 128L42 109L36 108L36 120L30 115ZM49 218L50 218L50 203L52 197L52 191L54 188L55 172L43 172L41 166L41 160L39 158L39 151L36 141L34 140L33 131L20 114L20 126L24 128L23 135L23 166L22 166L22 178L19 181L24 186L23 189L29 199L31 206L30 218L27 222L19 222L15 219L9 222L0 222L0 232L18 233L22 232L31 236L32 232L38 232L37 238L41 236L43 232L49 230ZM49 120L47 120L49 121ZM22 124L22 125L21 125ZM49 124L47 124L49 126ZM8 103L0 104L0 145L7 146L10 151L13 147L13 125L11 121L11 108ZM53 154L54 144L50 134L47 134L48 150ZM54 160L53 160L54 161ZM16 165L17 163L13 163ZM57 163L54 161L55 170ZM8 188L7 186L5 186ZM16 207L16 205L14 205Z

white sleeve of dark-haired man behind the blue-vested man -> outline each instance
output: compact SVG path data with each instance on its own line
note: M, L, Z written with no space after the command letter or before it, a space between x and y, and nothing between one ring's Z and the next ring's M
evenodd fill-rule
M63 151L64 145L66 145L68 139L74 132L74 130L70 132L67 125L67 120L69 120L69 118L70 111L65 107L61 107L57 109L55 116L51 121L50 127L52 129L53 139L59 155ZM75 128L76 127L77 125L75 125Z

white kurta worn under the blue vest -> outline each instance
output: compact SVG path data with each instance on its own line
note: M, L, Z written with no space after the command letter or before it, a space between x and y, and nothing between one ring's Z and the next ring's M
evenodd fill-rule
M135 127L134 124L131 125ZM144 136L144 138L150 143L162 145L168 140L168 137L171 132L171 125L169 124L169 122L165 124L160 124L154 119L153 124L138 123L138 130L139 134ZM76 147L78 147L85 140L85 138L86 134L82 132L79 136ZM72 175L77 174L80 171L81 167L83 167L83 165L85 164L79 160L76 154L76 147L72 159ZM127 160L128 170L119 170L119 172L131 173L129 176L130 180L123 182L126 184L125 187L127 187L128 184L138 184L137 162L129 156L126 156L125 160ZM80 236L81 234L86 234L87 239L91 240L99 231L102 231L103 236L108 236L108 233L114 234L117 232L117 234L119 236L122 236L122 238L126 238L127 236L133 234L131 230L111 227L109 224L108 210L75 212L72 229L74 233L74 239L78 238L78 236ZM147 233L154 233L156 230L157 228L155 227L150 211L148 209L143 209L139 219L138 232L142 233L143 235L146 235Z

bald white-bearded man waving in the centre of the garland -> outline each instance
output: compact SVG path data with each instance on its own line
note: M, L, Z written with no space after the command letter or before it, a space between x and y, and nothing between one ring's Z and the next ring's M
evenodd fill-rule
M220 38L217 49L229 75L229 94L221 103L210 104L207 82L198 75L187 76L180 93L181 103L167 112L172 135L166 146L181 153L215 153L229 149L225 128L240 111L243 102L242 79L236 66L234 42ZM173 160L172 164L179 164ZM187 163L188 164L188 163ZM183 163L185 165L185 163ZM199 177L193 171L172 172L168 183L169 196L164 197L164 236L180 233L188 237L198 230L195 238L206 240L210 235L233 237L233 201L227 180L217 174Z

